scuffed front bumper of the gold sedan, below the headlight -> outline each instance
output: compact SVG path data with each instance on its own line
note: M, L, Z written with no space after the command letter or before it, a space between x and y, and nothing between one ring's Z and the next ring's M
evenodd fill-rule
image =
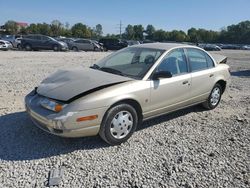
M41 96L29 94L25 97L25 108L32 122L40 129L62 137L94 136L99 133L104 109L93 109L79 112L68 112L65 115L55 113L40 106ZM76 122L78 117L98 113L98 118L93 121ZM57 123L60 121L60 127Z

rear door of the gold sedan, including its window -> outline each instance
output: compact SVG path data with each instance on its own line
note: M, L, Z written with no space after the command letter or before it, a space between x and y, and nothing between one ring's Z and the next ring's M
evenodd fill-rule
M192 72L190 97L193 102L203 101L207 99L215 83L214 62L200 49L187 48L186 54Z

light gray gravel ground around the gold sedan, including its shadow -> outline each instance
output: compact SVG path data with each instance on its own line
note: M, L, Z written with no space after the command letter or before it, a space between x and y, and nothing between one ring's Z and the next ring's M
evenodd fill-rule
M199 106L146 121L128 142L66 139L36 128L24 96L58 68L108 53L0 52L0 187L250 187L250 51L228 56L231 84L213 111Z

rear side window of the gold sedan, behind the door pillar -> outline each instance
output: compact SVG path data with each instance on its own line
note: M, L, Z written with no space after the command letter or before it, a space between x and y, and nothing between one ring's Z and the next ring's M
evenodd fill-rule
M187 49L187 56L192 72L213 67L212 59L199 49Z

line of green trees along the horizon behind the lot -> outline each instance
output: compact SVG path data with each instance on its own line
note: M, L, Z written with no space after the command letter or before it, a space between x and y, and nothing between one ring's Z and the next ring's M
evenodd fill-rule
M4 25L7 34L44 34L49 36L66 36L77 38L119 38L120 35L107 34L103 36L102 25L97 24L91 28L83 23L76 23L72 27L68 23L62 24L58 20L48 23L32 23L28 27L18 28L14 21L7 21ZM242 21L225 27L221 31L190 28L187 33L182 30L165 31L156 29L153 25L145 28L138 25L127 25L122 39L150 40L150 41L175 41L192 43L231 43L250 44L250 21Z

